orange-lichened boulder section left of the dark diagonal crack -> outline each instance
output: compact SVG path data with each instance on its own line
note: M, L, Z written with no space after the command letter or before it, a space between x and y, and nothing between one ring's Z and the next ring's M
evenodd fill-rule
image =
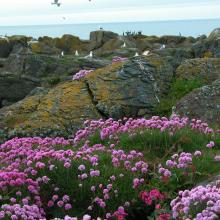
M9 128L9 136L66 136L85 119L100 117L82 81L63 83L0 110L1 127Z

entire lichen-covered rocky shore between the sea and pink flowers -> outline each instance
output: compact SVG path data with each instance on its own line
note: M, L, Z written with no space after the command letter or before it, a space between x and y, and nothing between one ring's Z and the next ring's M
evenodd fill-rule
M82 69L94 71L73 81ZM86 119L172 113L219 126L220 29L198 38L0 37L0 141L68 136Z

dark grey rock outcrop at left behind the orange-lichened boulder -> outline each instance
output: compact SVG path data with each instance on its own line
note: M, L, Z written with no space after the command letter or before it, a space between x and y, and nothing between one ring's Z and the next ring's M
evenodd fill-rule
M80 69L96 69L110 62L102 59L63 58L36 55L21 47L2 60L0 68L1 107L23 99L38 86L51 87L71 80ZM1 61L0 61L1 65ZM1 66L0 66L1 67Z

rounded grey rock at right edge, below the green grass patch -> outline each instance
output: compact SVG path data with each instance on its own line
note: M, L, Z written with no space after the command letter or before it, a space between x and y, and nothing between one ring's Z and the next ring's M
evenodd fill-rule
M193 90L176 105L180 116L202 119L210 124L220 123L220 79Z

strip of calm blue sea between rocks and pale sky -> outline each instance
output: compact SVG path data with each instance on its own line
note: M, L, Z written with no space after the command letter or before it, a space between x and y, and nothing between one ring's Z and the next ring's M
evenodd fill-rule
M91 31L102 27L104 30L118 34L123 32L141 31L145 35L182 35L198 37L208 35L213 29L220 27L220 19L206 20L172 20L119 23L90 23L62 25L33 25L33 26L0 26L0 35L26 35L33 38L40 36L61 37L71 34L88 40Z

